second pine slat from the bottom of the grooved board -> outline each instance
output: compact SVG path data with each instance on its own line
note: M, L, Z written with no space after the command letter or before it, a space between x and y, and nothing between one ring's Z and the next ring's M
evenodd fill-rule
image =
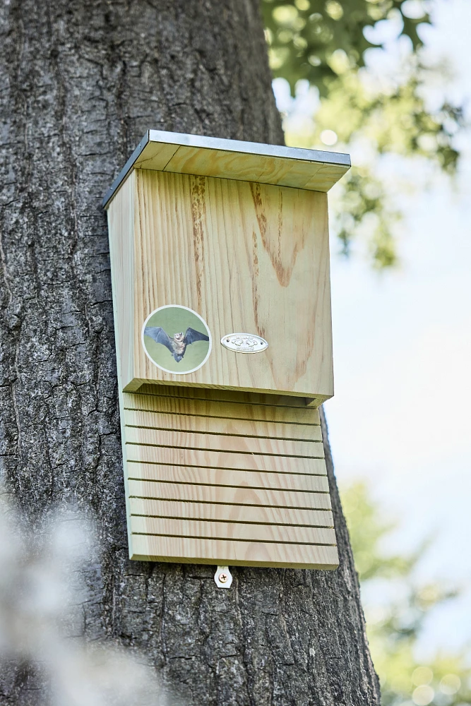
M131 517L133 534L170 537L235 539L249 542L287 542L290 544L327 544L335 546L335 530L323 527L286 527L283 525L243 525L242 522L203 522L174 520L168 517Z

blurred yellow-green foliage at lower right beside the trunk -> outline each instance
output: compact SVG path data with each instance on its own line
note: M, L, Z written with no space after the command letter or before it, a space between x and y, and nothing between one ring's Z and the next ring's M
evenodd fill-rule
M471 704L470 655L436 654L424 662L416 645L429 612L454 591L439 584L417 585L414 570L425 546L409 556L387 554L382 546L395 525L383 519L366 486L354 484L342 503L362 587L388 579L398 598L365 606L371 654L381 681L383 706L465 706Z

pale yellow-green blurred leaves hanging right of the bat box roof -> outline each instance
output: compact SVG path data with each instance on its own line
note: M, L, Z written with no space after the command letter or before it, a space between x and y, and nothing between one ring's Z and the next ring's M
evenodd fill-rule
M318 145L324 131L330 130L341 148L345 145L349 150L361 143L364 152L374 155L372 163L354 164L342 179L334 227L344 255L350 253L357 235L366 232L369 256L377 268L397 261L393 234L401 217L388 185L375 174L381 155L427 160L447 174L454 174L458 164L453 136L463 127L462 111L443 104L431 114L420 92L419 76L417 66L410 67L405 83L385 88L346 71L330 83L328 96L321 99L304 131L291 131L286 124L286 140L292 146Z

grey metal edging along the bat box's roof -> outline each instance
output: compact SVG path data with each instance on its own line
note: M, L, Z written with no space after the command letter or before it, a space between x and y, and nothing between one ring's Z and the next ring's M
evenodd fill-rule
M302 162L322 162L323 164L333 164L342 167L351 167L350 155L345 152L328 152L324 150L306 150L299 147L286 147L285 145L268 145L261 142L245 142L243 140L227 140L225 138L207 137L204 135L192 135L190 133L174 133L165 130L148 130L131 157L124 165L112 186L108 189L103 198L102 205L106 208L114 194L119 189L121 183L126 179L133 165L145 147L150 142L163 143L168 145L178 145L179 147L197 147L206 150L221 150L223 152L240 152L248 155L260 155L261 157L280 157L282 159L302 161Z

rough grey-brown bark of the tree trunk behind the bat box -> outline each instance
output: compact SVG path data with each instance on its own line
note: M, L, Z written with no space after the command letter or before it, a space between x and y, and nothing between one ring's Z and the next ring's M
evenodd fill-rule
M4 0L0 57L1 474L32 517L97 517L83 634L195 706L377 704L330 455L335 573L239 568L225 591L127 558L101 198L147 128L282 142L258 0ZM43 701L18 667L0 702Z

